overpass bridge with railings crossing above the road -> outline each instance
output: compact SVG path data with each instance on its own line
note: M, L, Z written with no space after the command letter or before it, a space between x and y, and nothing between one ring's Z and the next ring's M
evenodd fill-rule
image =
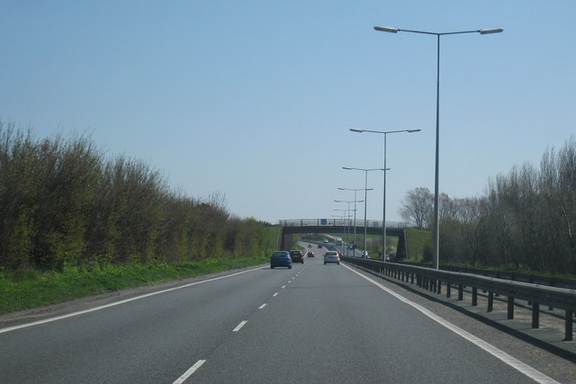
M330 235L339 235L344 241L347 237L355 233L356 239L364 236L365 223L364 219L347 220L347 219L286 219L279 220L280 237L278 238L278 249L284 249L284 235L321 233ZM400 258L408 257L406 247L406 228L410 228L408 223L386 221L386 236L398 237L398 249L396 256ZM367 235L382 235L382 220L366 220ZM348 241L351 243L352 240ZM359 244L363 244L358 241Z

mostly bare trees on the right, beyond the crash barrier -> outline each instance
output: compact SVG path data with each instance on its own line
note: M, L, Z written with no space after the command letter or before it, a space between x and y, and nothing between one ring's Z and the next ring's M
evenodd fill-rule
M576 139L548 148L540 166L514 166L481 197L440 195L440 260L576 274ZM434 195L407 192L403 219L431 229Z

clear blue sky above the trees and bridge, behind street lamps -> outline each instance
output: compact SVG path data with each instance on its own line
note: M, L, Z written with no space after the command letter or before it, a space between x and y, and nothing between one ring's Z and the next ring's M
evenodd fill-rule
M38 138L90 132L193 197L271 222L329 218L383 166L387 219L434 191L436 37L445 36L440 191L482 195L576 130L576 2L22 1L0 3L0 118ZM371 173L368 218L382 219Z

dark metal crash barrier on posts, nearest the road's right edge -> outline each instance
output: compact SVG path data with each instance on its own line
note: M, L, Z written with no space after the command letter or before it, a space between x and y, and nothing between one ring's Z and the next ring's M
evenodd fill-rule
M464 287L471 287L473 306L476 306L478 303L478 290L487 291L488 312L492 310L494 295L508 297L509 319L514 318L514 300L527 300L532 306L533 328L539 327L540 305L550 308L561 308L565 311L564 340L572 341L572 317L576 314L576 290L547 287L520 281L509 281L471 273L440 271L432 268L389 263L374 259L342 257L342 261L354 263L401 281L410 281L411 283L416 281L419 287L437 294L441 294L442 284L444 284L446 287L446 298L450 298L451 289L453 286L456 286L458 299L462 300Z

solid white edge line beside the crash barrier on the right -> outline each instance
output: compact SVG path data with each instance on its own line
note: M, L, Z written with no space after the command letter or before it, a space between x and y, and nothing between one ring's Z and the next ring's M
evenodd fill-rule
M499 348L495 347L494 345L483 341L481 338L474 336L467 331L464 331L464 329L460 328L459 326L455 326L454 324L450 323L446 319L439 317L436 314L430 312L427 308L424 308L421 305L419 305L413 301L410 301L410 299L406 299L405 297L394 292L393 290L390 290L390 289L384 287L378 281L374 281L374 280L370 279L369 277L363 275L360 272L353 270L352 268L348 267L347 265L344 265L344 267L347 268L349 271L355 272L358 276L364 278L365 280L372 282L378 288L385 290L386 292L390 293L396 299L400 299L401 301L410 305L411 307L418 309L424 315L430 317L432 320L436 321L441 326L445 326L446 328L448 328L449 330L454 332L456 335L460 335L461 337L464 337L464 339L466 339L469 342L479 346L480 348L482 348L487 353L491 353L491 355L493 355L494 357L496 357L500 361L507 363L510 367L523 373L528 378L535 380L536 382L539 382L539 383L558 383L558 381L552 379L549 376L546 376L541 371L537 371L536 369L530 367L526 363L520 362L515 357L512 357L511 355L509 355L508 353L505 353L504 351L500 350Z

